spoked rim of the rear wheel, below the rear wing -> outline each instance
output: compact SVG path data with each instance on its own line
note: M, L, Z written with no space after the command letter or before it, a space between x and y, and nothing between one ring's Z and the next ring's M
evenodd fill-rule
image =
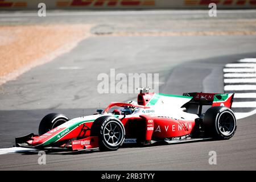
M228 111L221 113L218 119L218 129L221 134L228 136L231 135L236 126L236 119Z

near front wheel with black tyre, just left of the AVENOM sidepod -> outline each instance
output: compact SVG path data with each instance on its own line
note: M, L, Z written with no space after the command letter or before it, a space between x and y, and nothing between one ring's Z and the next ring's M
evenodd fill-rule
M98 137L98 146L101 151L114 151L125 140L125 127L115 117L102 116L93 122L90 136Z

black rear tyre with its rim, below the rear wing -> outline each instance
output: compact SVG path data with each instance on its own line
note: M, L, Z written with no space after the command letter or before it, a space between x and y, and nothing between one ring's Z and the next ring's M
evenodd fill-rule
M205 135L214 139L230 139L237 130L237 119L228 107L210 107L203 119Z

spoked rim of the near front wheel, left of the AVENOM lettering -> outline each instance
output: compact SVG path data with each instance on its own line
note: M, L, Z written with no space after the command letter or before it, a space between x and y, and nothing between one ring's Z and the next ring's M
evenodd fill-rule
M104 127L103 135L109 146L118 146L122 140L122 128L117 122L109 122Z

